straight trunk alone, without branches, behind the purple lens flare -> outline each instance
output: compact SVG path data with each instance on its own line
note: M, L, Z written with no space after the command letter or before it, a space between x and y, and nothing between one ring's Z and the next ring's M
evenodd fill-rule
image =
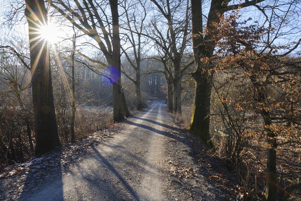
M118 80L113 84L113 120L119 122L124 117L129 116L129 111L125 101L125 95L121 87L121 62L120 62L120 37L119 37L119 14L118 1L110 0L110 7L112 13L112 65L118 70Z

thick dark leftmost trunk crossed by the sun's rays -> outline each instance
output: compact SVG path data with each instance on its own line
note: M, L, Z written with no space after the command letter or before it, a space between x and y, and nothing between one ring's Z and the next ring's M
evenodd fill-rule
M25 2L25 16L29 24L36 155L40 155L61 143L54 108L49 45L37 31L47 24L47 11L43 0Z

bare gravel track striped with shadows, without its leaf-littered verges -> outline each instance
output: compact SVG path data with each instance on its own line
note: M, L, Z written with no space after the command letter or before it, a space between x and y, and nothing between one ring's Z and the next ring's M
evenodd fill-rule
M165 200L162 102L121 123L114 138L21 200ZM25 186L26 188L26 186Z

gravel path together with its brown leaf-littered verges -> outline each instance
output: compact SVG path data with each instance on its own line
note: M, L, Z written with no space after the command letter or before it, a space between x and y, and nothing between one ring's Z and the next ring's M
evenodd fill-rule
M156 101L0 172L0 200L242 200L236 178Z

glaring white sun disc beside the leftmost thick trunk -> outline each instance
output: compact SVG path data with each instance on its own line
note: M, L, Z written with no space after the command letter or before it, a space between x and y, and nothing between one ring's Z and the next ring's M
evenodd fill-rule
M48 42L55 44L60 40L60 31L57 26L52 23L40 27L39 34Z

